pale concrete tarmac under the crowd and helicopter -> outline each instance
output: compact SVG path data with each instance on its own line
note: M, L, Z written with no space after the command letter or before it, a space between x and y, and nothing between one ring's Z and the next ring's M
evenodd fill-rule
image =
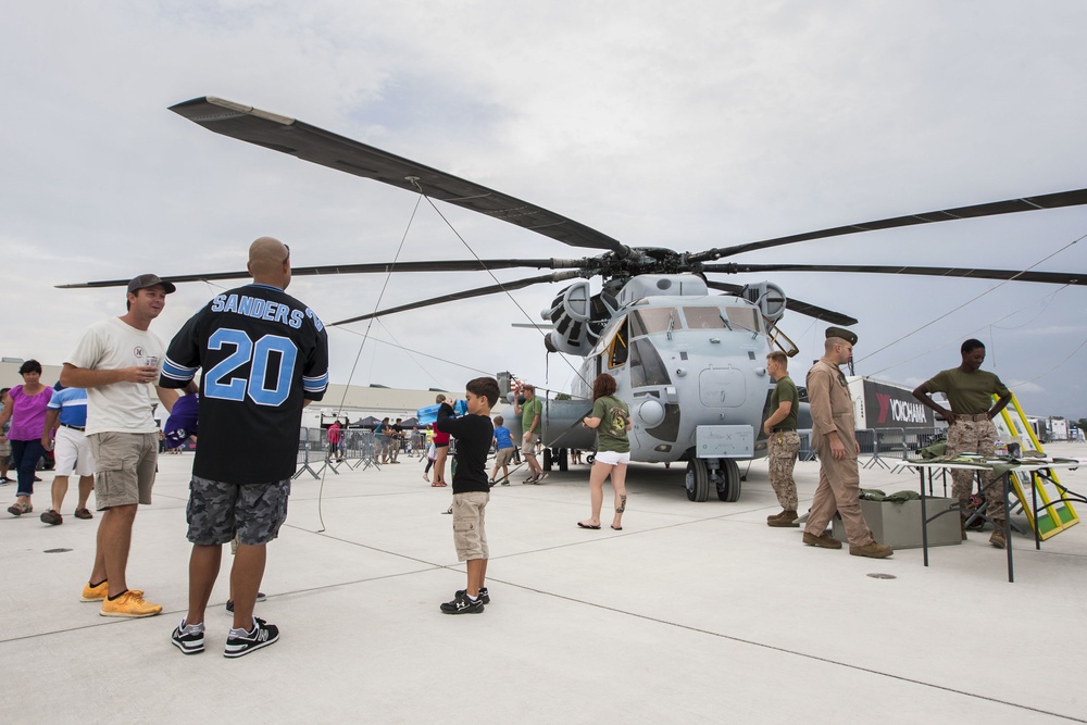
M136 518L128 582L160 616L107 618L79 601L98 517L72 516L74 479L61 526L38 520L48 472L33 514L0 513L0 722L1087 722L1085 525L1040 551L1014 536L1010 584L988 530L930 549L927 568L920 549L871 560L802 546L801 529L765 524L779 508L764 460L741 465L736 503L687 501L682 465L632 465L622 532L608 527L607 485L603 528L577 528L588 466L542 486L522 471L487 508L491 603L450 616L438 604L465 584L442 513L451 489L415 459L341 465L295 480L268 547L257 614L279 641L228 660L228 549L207 650L186 657L168 639L188 601L191 463L160 457ZM797 465L802 511L817 466ZM1087 472L1060 476L1087 491ZM862 485L916 490L917 476L875 466Z

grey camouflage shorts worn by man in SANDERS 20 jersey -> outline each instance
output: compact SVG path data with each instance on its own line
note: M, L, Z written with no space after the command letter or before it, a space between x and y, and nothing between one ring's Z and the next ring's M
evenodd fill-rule
M287 520L290 478L271 484L224 484L192 476L185 520L188 539L200 546L226 543L237 535L247 546L267 543Z

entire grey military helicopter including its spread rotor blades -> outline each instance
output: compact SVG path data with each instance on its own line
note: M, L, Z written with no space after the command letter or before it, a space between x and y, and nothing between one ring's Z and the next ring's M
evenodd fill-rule
M217 134L422 193L530 229L570 247L603 250L579 259L376 262L295 267L292 273L477 272L514 267L554 271L379 310L340 320L334 325L537 284L576 280L564 287L542 314L550 325L545 337L548 352L584 358L570 399L544 401L541 438L550 453L545 457L546 463L551 462L549 458L557 457L564 470L567 449L592 448L594 434L579 422L591 405L592 379L608 372L615 376L617 395L629 404L634 418L632 460L686 461L685 484L687 497L692 501L707 500L711 487L721 500L736 501L741 487L737 461L765 455L762 422L769 413L773 383L766 372L765 355L773 349L782 349L790 355L797 353L796 346L777 327L784 313L789 310L835 325L857 323L849 315L788 299L778 286L769 282L735 285L713 280L709 275L854 272L1087 285L1087 274L720 261L772 247L861 232L1084 204L1087 203L1087 189L911 214L700 252L679 252L628 247L584 224L514 197L248 105L204 97L178 103L171 110ZM226 272L165 278L176 284L247 276L245 272ZM597 276L603 278L603 285L594 293L589 279ZM110 280L65 287L125 284L127 280ZM512 396L510 376L500 375L500 382L503 392ZM512 411L507 413L507 420L513 424L511 428L517 433L518 416Z

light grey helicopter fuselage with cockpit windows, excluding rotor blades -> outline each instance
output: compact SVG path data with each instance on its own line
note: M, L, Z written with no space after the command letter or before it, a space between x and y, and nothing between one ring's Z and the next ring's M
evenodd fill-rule
M773 348L760 308L709 295L695 275L639 275L617 299L626 303L585 358L571 399L545 401L544 445L595 447L595 432L580 420L592 407L594 379L609 373L616 397L630 408L632 461L765 455L762 422L773 386L766 353ZM520 430L520 420L511 423ZM721 436L729 442L713 442ZM711 477L716 467L711 464Z

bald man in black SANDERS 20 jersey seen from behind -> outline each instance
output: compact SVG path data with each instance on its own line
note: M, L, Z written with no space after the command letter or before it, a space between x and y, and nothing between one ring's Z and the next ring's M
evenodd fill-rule
M253 284L216 296L178 330L160 385L200 379L200 445L186 518L189 610L171 635L186 654L203 651L203 615L223 545L237 535L230 571L234 628L224 655L273 643L275 625L253 617L265 547L287 517L302 408L328 385L328 338L305 304L285 293L290 249L271 237L249 247Z

